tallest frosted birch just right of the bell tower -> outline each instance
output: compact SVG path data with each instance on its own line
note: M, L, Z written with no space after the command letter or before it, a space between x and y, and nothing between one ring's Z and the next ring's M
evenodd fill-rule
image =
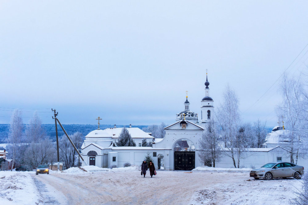
M223 101L218 108L217 121L221 126L221 135L225 142L225 148L230 151L230 154L227 154L227 152L224 153L232 158L235 168L237 168L237 165L235 162L236 151L234 147L240 127L238 104L239 102L235 91L227 85L223 94Z

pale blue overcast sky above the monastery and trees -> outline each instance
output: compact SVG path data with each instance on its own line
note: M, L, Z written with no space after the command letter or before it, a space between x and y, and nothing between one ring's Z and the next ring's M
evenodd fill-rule
M277 125L274 82L308 64L307 1L0 1L0 123L160 124L200 113L206 69L244 122ZM274 86L259 99L272 85ZM259 100L258 100L259 99ZM256 103L257 102L257 103Z

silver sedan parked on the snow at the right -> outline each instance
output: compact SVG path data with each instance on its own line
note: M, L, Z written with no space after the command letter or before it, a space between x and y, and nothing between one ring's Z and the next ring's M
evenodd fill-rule
M294 177L294 179L300 179L303 174L303 166L298 166L290 162L267 163L261 168L252 169L250 171L250 177L255 179L264 178L266 180L271 180L273 177Z

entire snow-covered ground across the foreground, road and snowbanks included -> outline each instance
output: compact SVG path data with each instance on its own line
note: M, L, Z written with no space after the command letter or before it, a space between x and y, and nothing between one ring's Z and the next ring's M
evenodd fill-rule
M247 168L157 171L85 166L35 175L0 171L0 204L290 204L301 180L255 180Z

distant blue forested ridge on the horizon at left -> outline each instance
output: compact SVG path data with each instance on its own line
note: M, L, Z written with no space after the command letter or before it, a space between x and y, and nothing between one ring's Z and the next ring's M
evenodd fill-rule
M111 124L100 124L100 129L113 128L114 125ZM42 124L43 129L46 132L46 136L49 136L50 139L56 141L56 130L55 124ZM117 125L118 128L124 127L124 125ZM125 125L125 127L129 127L129 125ZM146 128L148 125L132 125L132 127L137 128ZM0 143L6 143L5 139L9 134L10 124L0 124ZM83 137L86 136L89 132L98 128L97 124L63 124L63 128L67 132L67 134L72 135L75 132L81 132ZM26 124L24 124L24 130L26 129ZM61 127L58 125L58 135L64 135Z

